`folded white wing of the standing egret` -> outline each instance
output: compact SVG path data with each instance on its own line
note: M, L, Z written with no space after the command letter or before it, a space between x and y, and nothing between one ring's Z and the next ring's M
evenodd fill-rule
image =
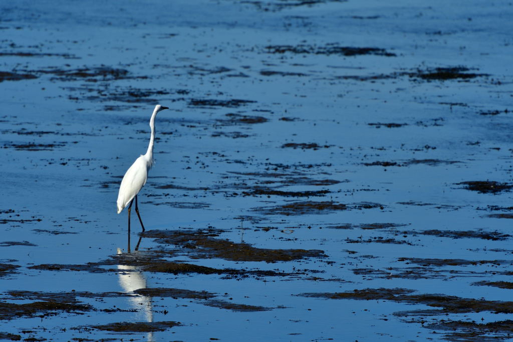
M120 192L117 195L117 213L119 214L135 197L148 179L148 169L143 156L135 159L130 166L120 185Z

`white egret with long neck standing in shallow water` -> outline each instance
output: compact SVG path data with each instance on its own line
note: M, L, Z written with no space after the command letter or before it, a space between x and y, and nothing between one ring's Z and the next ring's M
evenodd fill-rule
M148 145L148 151L146 154L141 154L141 156L135 159L132 166L128 168L127 172L123 176L123 180L120 185L120 192L117 195L117 213L121 213L126 206L128 206L128 248L130 249L130 210L132 208L133 200L135 199L135 212L137 213L137 217L139 217L139 222L141 222L141 227L144 232L143 220L141 219L141 215L139 214L139 207L137 206L137 193L141 191L143 186L146 184L146 180L148 179L148 170L153 165L153 141L155 139L155 116L161 110L168 109L168 107L164 107L161 105L156 105L155 109L153 109L153 113L150 118L150 144Z

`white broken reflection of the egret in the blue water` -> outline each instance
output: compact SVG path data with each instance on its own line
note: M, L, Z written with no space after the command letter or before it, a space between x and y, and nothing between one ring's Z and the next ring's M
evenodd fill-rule
M122 254L121 248L117 249L117 254ZM129 297L132 307L138 312L142 310L144 316L137 318L137 320L145 320L149 323L153 321L152 311L152 298L150 296L143 296L135 294L133 291L139 289L146 289L146 278L143 272L137 270L135 266L117 265L117 269L121 272L117 273L119 276L120 285L123 288L123 292L131 293ZM126 271L126 272L123 272ZM153 334L148 333L148 341L153 340Z

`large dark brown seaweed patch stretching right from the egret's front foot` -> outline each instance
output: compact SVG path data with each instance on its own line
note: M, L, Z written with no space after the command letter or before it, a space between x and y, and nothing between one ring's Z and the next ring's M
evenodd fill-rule
M267 249L252 247L245 243L215 238L219 230L151 230L142 233L144 237L156 238L160 244L175 245L187 248L188 255L193 258L223 258L234 261L290 261L306 257L325 256L321 250L304 249Z

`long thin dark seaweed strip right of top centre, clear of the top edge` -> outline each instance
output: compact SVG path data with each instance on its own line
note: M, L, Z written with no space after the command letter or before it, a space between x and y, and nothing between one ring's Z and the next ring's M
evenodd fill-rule
M385 49L370 47L349 47L339 46L336 43L326 44L325 46L315 45L268 45L265 47L267 53L294 53L294 54L316 54L316 55L342 55L342 56L358 56L358 55L377 55L377 56L396 56L395 53L386 51Z

